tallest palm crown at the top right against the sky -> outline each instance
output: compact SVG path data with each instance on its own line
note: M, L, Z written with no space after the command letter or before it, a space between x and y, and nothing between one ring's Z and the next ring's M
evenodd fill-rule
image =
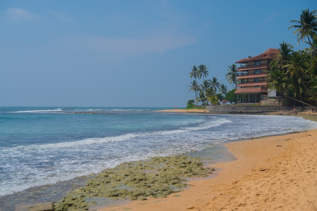
M304 43L308 43L310 47L317 53L317 48L314 48L310 38L316 38L317 36L317 15L315 14L317 10L309 12L309 9L302 10L299 21L291 20L290 22L296 23L297 25L292 25L290 28L295 28L296 30L293 34L297 33L297 45L301 39ZM307 37L308 42L305 41Z

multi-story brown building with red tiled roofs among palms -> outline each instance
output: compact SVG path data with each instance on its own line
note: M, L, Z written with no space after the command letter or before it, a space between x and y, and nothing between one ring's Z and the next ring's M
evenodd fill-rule
M239 76L237 89L234 92L238 96L238 102L282 105L281 98L276 96L276 90L268 89L265 81L269 63L279 53L278 49L268 49L260 55L235 62L240 64L236 70Z

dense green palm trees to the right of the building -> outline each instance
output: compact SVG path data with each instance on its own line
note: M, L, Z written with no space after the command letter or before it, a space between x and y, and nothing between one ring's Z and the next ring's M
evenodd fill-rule
M294 51L283 41L267 74L268 88L285 97L288 106L317 105L317 10L302 10L300 19L291 20L297 41L308 44L304 50Z

